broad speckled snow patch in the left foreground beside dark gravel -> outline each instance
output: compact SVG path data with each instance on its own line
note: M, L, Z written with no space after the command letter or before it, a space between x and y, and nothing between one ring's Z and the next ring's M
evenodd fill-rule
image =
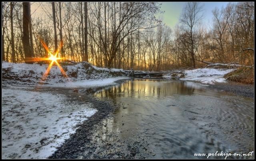
M2 89L2 159L45 159L97 110L64 95Z

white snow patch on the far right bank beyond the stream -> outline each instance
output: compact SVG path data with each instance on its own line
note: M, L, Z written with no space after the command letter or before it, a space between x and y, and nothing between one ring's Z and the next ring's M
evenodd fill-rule
M196 70L185 70L185 78L180 78L180 80L200 81L201 83L209 84L226 82L223 76L232 71L234 71L234 69L199 68Z

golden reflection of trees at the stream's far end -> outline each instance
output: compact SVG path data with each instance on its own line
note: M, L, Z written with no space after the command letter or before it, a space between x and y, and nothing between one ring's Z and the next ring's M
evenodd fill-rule
M159 81L159 80L133 80L120 85L107 87L95 94L96 97L108 97L113 100L116 97L160 97L173 94L190 95L194 87L189 87L186 82Z

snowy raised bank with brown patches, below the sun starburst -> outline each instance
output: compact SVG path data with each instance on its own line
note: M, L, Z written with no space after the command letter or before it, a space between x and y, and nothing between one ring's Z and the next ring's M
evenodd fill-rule
M48 64L2 63L2 80L7 84L39 85L56 87L92 87L112 84L116 80L127 79L129 71L92 66L88 62L64 65L68 77L64 77L57 66L53 66L46 80L42 76Z

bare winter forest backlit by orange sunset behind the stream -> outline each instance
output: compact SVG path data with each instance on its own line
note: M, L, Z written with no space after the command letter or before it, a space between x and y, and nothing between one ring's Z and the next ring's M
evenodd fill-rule
M160 2L2 2L2 61L48 58L43 41L51 51L63 42L58 56L66 60L126 70L254 64L254 2L216 8L207 25L202 4L188 2L174 28L157 16L160 8Z

